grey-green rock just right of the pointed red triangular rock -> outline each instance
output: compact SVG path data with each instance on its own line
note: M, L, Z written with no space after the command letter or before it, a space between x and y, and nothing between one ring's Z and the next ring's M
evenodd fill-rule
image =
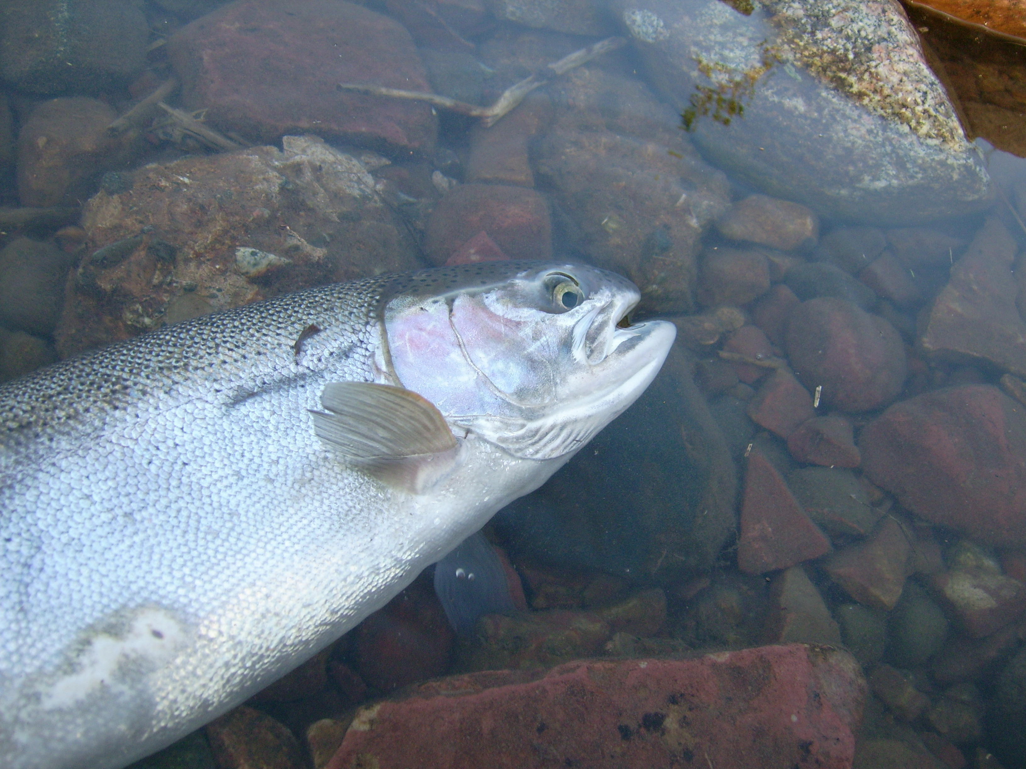
M855 473L840 468L800 468L787 485L808 517L832 537L866 536L880 518Z

